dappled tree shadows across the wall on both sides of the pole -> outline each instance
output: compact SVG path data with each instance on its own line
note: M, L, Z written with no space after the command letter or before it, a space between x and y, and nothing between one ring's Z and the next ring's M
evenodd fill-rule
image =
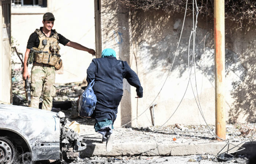
M172 65L181 34L184 13L169 15L161 10L135 10L131 12L133 51L138 54L145 78L152 72L156 78L165 77ZM199 16L195 39L196 71L204 74L214 87L214 34L213 22ZM192 31L192 17L187 16L180 48L172 73L188 77L188 42ZM256 116L256 40L255 24L240 24L226 20L226 86L230 102L229 123L255 122ZM209 27L211 27L209 29ZM208 28L208 29L207 29ZM192 60L192 40L189 59ZM151 74L152 75L152 74ZM169 78L171 78L170 75ZM228 108L226 108L228 109Z

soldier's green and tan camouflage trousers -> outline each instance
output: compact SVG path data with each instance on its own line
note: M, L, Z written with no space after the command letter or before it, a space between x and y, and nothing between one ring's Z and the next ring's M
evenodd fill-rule
M31 104L39 108L39 98L43 92L42 109L52 110L52 99L56 94L54 86L55 67L33 66L31 70Z

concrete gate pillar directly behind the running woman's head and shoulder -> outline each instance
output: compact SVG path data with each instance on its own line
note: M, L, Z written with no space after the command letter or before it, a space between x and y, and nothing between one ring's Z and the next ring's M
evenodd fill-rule
M98 2L99 5L97 5ZM95 0L95 12L96 15L98 13L98 20L95 20L97 25L96 38L99 39L96 40L97 51L100 52L105 48L112 48L116 51L117 59L126 60L129 65L134 65L135 63L131 62L132 56L130 55L131 19L129 10L120 7L118 1L115 0ZM100 54L97 57L100 57ZM126 124L136 116L137 112L135 110L137 104L135 89L131 88L126 80L124 80L123 89L124 98L119 105L115 126ZM132 122L132 126L136 126L136 121Z

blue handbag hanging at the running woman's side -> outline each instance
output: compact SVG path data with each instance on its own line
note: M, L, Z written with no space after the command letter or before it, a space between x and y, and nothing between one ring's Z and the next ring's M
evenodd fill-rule
M80 117L90 117L93 114L97 102L93 91L94 79L83 91L79 99L78 115Z

